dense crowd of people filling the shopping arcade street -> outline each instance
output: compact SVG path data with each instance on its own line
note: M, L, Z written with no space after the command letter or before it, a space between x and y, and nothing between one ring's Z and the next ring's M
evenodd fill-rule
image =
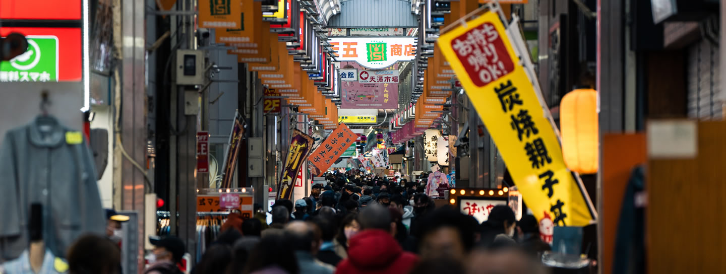
M294 203L277 200L269 225L257 204L253 218L242 220L231 213L192 273L547 272L539 258L550 246L539 240L537 220L531 215L517 222L510 207L497 206L480 224L452 207L436 208L422 193L425 184L349 175L328 175L326 184L312 186L311 196ZM78 245L101 248L89 244L91 240ZM167 236L152 244L155 249L144 273L179 273L183 241ZM76 262L73 250L70 253L71 270L94 273L91 269L102 267ZM118 260L95 263L118 265ZM103 273L112 270L115 267L106 266Z

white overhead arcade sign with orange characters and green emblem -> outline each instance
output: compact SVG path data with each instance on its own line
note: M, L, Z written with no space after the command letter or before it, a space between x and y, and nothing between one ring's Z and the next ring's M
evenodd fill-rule
M338 61L355 61L372 70L416 58L414 37L335 37L330 44Z

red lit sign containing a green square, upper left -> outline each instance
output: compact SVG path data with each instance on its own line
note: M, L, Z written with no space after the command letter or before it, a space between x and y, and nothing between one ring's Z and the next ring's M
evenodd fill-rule
M8 28L1 36L23 33L28 51L0 64L0 82L80 81L83 78L81 28Z

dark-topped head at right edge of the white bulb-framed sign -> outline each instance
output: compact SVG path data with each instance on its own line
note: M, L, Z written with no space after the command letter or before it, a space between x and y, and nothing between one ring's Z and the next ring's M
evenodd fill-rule
M517 221L511 207L500 204L492 208L486 222L481 223L481 244L494 244L494 241L511 239L513 241Z

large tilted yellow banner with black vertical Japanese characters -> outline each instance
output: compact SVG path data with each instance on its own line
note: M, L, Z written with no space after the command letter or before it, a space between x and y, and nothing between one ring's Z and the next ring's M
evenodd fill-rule
M516 26L509 31L520 35ZM550 115L527 76L531 68L520 65L499 15L486 12L442 34L438 43L534 216L549 214L555 225L593 223L592 202L565 166Z

